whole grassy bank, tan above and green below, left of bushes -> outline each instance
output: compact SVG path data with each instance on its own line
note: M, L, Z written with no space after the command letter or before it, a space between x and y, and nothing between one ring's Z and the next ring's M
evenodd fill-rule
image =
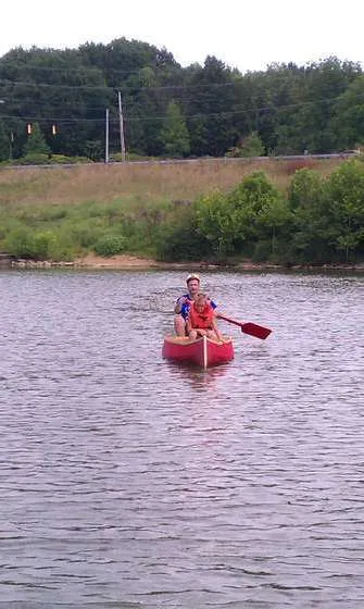
M343 159L264 161L199 160L22 167L0 171L0 250L28 259L74 260L89 252L133 253L166 260L163 243L184 235L181 258L201 258L190 238L190 202L211 191L227 192L263 170L286 194L294 172L306 167L328 176ZM174 244L172 243L172 249ZM179 250L178 250L179 251ZM206 252L209 247L206 244ZM161 253L162 252L162 253Z

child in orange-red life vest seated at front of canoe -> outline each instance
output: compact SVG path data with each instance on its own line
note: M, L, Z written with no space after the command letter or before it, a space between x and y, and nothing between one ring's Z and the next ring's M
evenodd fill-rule
M186 325L190 338L208 336L214 340L223 340L216 324L214 309L205 294L198 294L196 300L191 302Z

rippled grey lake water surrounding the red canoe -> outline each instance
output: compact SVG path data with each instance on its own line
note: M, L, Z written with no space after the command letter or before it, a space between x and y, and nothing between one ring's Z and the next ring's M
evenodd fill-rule
M364 276L209 272L273 328L162 360L184 272L0 273L0 600L364 607Z

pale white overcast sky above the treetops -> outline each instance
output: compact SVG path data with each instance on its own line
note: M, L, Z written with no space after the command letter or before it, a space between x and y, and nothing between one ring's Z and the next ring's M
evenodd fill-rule
M125 37L165 47L183 66L210 54L242 73L329 55L364 67L363 17L364 0L8 0L0 57Z

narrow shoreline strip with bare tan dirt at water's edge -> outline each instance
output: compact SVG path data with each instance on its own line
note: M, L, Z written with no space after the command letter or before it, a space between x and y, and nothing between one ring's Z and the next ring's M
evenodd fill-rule
M335 264L274 264L269 262L241 261L236 264L216 264L204 261L193 262L159 262L151 258L118 254L110 258L87 254L72 262L36 261L3 259L2 268L11 269L75 269L75 270L168 270L168 271L354 271L364 272L364 262L359 264L335 263Z

